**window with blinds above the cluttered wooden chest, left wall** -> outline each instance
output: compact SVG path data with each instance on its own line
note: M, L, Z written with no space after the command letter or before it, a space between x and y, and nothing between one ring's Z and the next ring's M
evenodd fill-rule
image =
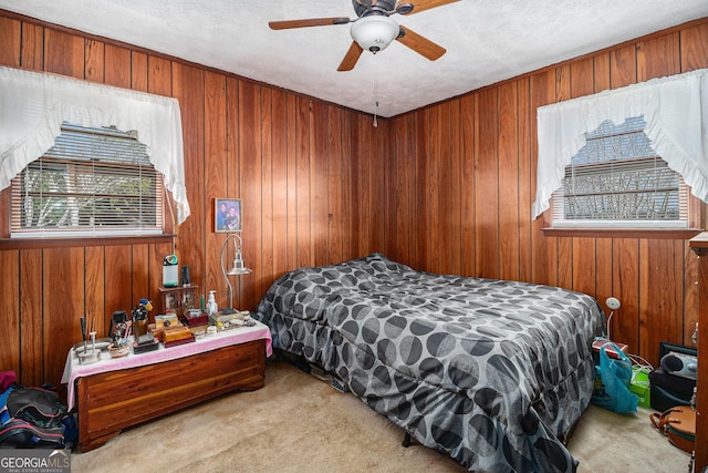
M163 176L133 132L67 123L12 179L13 238L163 233Z

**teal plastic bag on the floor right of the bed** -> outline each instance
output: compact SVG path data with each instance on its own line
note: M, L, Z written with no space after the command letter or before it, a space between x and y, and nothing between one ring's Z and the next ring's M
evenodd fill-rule
M620 357L610 358L605 351L606 346L612 346ZM637 411L639 399L629 391L632 380L632 361L620 348L612 343L605 343L600 348L600 366L595 367L595 389L592 403L621 414Z

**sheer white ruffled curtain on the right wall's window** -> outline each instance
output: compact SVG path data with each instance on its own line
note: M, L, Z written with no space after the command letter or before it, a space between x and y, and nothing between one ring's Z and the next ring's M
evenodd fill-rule
M633 116L644 116L654 151L708 202L708 69L701 69L539 107L533 219L549 208L585 133Z

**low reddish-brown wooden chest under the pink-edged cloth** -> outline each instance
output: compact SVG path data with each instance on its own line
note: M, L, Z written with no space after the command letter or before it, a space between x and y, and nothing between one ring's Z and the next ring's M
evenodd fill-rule
M76 379L82 452L121 430L218 394L263 387L266 340Z

